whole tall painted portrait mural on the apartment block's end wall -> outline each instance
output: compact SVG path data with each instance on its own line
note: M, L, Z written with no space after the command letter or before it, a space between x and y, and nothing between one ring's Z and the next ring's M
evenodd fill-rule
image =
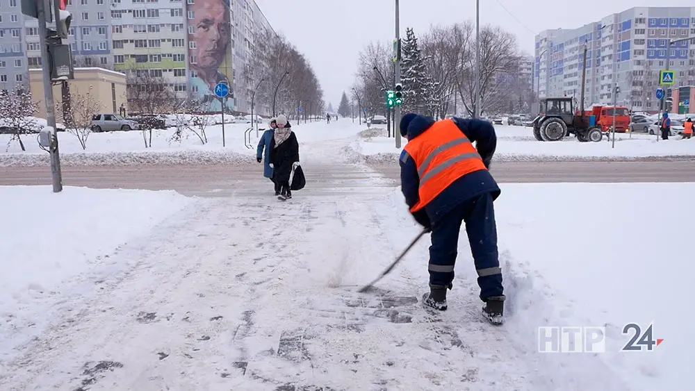
M194 0L186 5L188 14L188 67L195 76L191 86L197 95L204 97L208 110L222 110L220 99L215 97L215 85L226 82L229 98L225 103L234 107L233 74L231 65L231 0ZM194 90L195 91L195 90Z

